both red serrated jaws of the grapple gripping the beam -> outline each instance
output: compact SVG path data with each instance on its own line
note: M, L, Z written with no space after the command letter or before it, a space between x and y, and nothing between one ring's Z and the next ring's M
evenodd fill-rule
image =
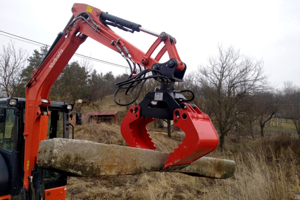
M213 151L218 144L218 135L208 115L189 103L181 103L182 109L174 110L173 122L185 132L182 143L167 156L163 170L182 168L194 160ZM140 115L140 107L129 108L121 123L121 134L131 147L155 150L156 147L147 132L146 125L155 120Z

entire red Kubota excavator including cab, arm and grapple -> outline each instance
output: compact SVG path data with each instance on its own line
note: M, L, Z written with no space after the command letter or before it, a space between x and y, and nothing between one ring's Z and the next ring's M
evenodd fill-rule
M63 178L60 176L59 182L53 175L49 175L48 179L52 179L47 184L45 178L41 178L45 174L37 166L38 147L40 141L48 138L48 124L57 127L59 111L62 113L60 116L62 127L67 131L66 118L72 105L51 102L49 91L79 45L87 37L120 53L130 67L129 76L116 83L114 101L117 104L130 105L134 102L147 79L154 78L160 82L160 87L146 94L138 105L129 107L121 122L121 134L130 147L156 149L146 128L147 124L156 118L173 120L174 125L185 132L182 143L166 157L163 171L185 167L213 151L218 145L218 135L208 115L190 103L194 97L193 92L175 90L175 82L183 80L186 64L178 55L176 39L173 36L166 32L156 33L143 28L140 24L116 17L87 4L75 3L71 11L72 17L65 28L59 32L39 67L31 72L32 77L25 87L25 100L20 98L0 100L0 127L3 127L2 134L0 130L0 137L2 137L0 173L7 171L8 174L0 176L0 199L65 199L66 176ZM147 52L143 52L116 34L110 28L111 26L132 33L144 32L153 35L156 39ZM161 43L163 43L162 48L155 57L152 56ZM169 59L159 62L165 53ZM137 95L132 101L122 104L115 100L120 90L126 90L126 94L129 94L134 89L137 89ZM182 92L190 92L193 97L186 99ZM79 113L76 118L79 120ZM5 121L6 126L1 125ZM7 136L5 128L9 127L8 121L12 125L15 123L14 128L10 126L9 138L5 137ZM24 125L21 125L22 123ZM51 132L54 129L52 128ZM23 134L18 134L22 130ZM13 136L15 139L11 143ZM58 130L56 136L58 137ZM68 138L68 135L63 133L63 137ZM6 140L10 141L10 147L5 144ZM46 194L42 194L42 191Z

